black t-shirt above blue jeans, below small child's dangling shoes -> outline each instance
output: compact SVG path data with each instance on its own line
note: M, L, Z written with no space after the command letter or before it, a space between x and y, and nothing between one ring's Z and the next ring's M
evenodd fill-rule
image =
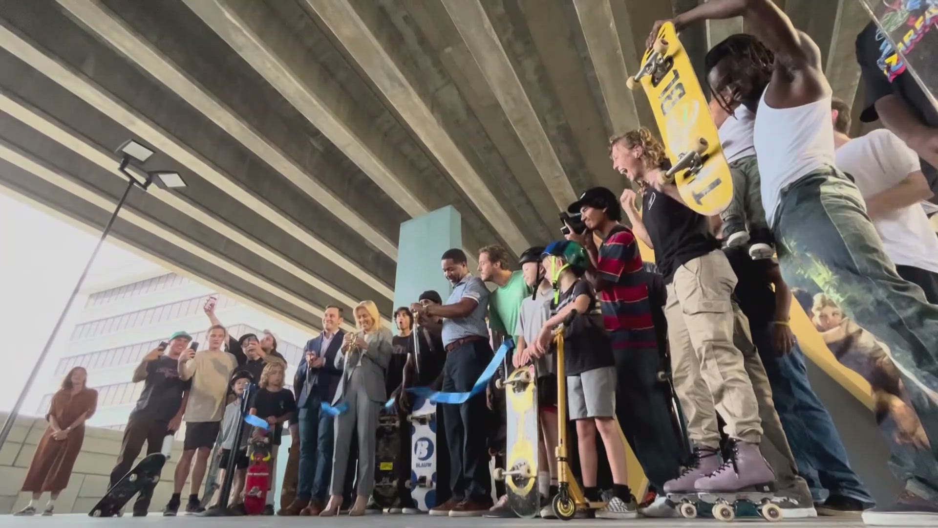
M736 302L749 324L758 327L775 320L775 291L769 272L779 264L772 258L753 259L747 246L728 247L723 253L736 273Z

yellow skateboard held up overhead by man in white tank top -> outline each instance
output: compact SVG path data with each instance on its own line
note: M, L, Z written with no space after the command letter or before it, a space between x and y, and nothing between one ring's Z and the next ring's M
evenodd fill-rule
M658 39L645 51L642 67L627 84L631 89L641 84L651 103L671 161L667 177L677 184L684 202L706 216L726 209L733 199L730 166L673 23L661 24Z

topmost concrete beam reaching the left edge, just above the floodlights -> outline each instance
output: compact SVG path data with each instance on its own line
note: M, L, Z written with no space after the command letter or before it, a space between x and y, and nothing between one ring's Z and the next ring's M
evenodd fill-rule
M372 287L387 299L393 299L393 290L383 281L374 277L351 258L344 256L325 241L310 233L303 225L275 209L257 194L224 174L202 155L180 142L169 132L161 129L145 116L141 116L113 94L101 88L97 83L77 70L64 64L56 57L40 49L31 39L25 37L10 23L0 21L0 47L18 56L34 69L62 85L77 97L86 101L107 116L120 122L131 133L137 135L160 151L173 157L179 163L187 165L200 177L231 195L251 210L263 214L265 218L278 225L300 243L306 244L325 258L353 272L358 279Z

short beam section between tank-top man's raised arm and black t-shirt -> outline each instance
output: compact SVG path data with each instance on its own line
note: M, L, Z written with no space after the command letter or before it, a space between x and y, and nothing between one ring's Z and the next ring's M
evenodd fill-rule
M860 65L856 62L856 34L870 21L866 10L857 0L837 0L837 17L830 40L829 57L825 67L827 81L834 95L853 106L857 86L860 84Z

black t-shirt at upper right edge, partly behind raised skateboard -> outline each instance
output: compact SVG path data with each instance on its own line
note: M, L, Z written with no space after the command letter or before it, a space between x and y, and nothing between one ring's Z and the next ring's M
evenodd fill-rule
M920 14L910 13L910 16ZM934 25L935 23L922 24L915 30L918 36L917 39L912 39L913 44L910 45L909 51L915 48L938 48L938 27L933 27ZM875 23L870 22L856 36L855 46L856 61L860 64L866 94L863 112L860 114L861 121L878 119L879 115L873 104L887 95L896 94L912 108L913 113L922 122L938 128L938 109L931 104L921 86L915 82L912 73L906 70L892 43L885 39ZM929 66L931 65L926 65ZM938 169L925 160L921 160L921 163L922 174L928 179L931 190L938 194Z

